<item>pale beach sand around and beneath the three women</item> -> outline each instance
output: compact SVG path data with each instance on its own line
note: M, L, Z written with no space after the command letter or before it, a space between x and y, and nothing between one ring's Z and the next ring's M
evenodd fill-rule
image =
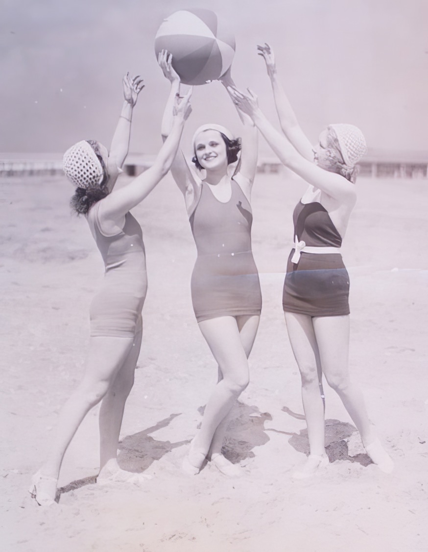
M127 182L122 176L122 184ZM243 476L180 470L217 369L191 307L196 250L170 176L133 214L146 243L149 290L119 463L142 485L95 484L98 408L70 445L56 507L27 491L58 411L81 379L88 308L103 265L62 177L0 181L2 229L1 548L5 552L419 552L428 549L427 181L357 181L344 241L351 277L352 378L395 462L370 463L338 396L325 385L323 476L293 481L308 452L300 378L282 314L293 206L304 185L258 174L253 250L263 312L251 382L224 452ZM424 521L425 520L425 521Z

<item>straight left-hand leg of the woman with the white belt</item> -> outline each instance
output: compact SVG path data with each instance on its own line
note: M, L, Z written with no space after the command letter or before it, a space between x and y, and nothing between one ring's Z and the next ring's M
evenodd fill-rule
M320 395L319 373L321 364L312 317L285 312L288 337L302 379L303 410L308 426L311 454L325 455L324 404Z

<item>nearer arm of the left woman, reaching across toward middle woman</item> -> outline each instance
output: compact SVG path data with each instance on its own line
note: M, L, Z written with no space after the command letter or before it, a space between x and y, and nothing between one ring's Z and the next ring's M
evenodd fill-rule
M100 217L103 222L106 221L110 226L114 223L116 227L122 228L126 213L138 205L167 174L178 150L184 122L191 112L190 96L191 91L184 98L175 99L169 135L152 166L130 184L101 200Z

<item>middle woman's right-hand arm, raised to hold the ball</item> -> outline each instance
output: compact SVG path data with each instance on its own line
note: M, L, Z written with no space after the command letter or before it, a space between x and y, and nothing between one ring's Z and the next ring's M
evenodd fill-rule
M231 76L231 69L229 68L219 80L223 84L224 88L226 88L226 92L228 93L229 97L231 97L237 109L239 118L243 124L242 147L236 172L242 174L242 176L244 176L249 181L249 186L251 190L257 168L257 155L259 146L258 131L254 126L253 120L247 114L243 113L242 110L238 109L234 98L229 92L229 88L235 87L235 83L233 82Z

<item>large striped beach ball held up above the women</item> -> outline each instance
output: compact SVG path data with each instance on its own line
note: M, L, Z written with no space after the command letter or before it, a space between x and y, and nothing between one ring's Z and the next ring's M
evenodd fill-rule
M154 39L154 51L173 55L172 65L184 84L218 79L232 64L235 39L209 9L181 9L164 19Z

